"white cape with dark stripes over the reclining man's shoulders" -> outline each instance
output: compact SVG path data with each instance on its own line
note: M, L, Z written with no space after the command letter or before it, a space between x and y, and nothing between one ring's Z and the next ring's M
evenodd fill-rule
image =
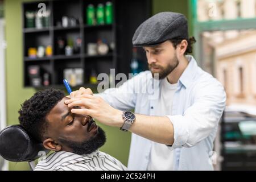
M125 171L127 168L119 160L95 151L91 154L78 155L72 152L53 152L41 159L34 171Z

